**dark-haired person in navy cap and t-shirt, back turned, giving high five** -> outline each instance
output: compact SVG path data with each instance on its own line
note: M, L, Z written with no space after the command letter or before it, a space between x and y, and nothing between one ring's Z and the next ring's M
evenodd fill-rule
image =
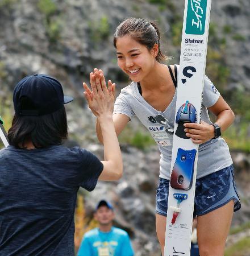
M83 148L62 146L64 104L73 98L59 81L32 75L15 86L10 146L0 151L1 255L74 255L79 187L93 191L98 179L118 180L123 172L112 86L93 86L91 106L105 134L102 162Z

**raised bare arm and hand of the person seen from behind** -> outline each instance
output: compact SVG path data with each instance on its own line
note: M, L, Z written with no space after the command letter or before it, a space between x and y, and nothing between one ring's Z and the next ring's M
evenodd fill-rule
M92 92L84 83L84 94L89 108L98 119L104 145L105 160L102 161L103 171L99 176L99 180L118 180L122 177L123 164L113 121L113 84L109 81L107 88L103 73L94 71L94 73L90 73Z

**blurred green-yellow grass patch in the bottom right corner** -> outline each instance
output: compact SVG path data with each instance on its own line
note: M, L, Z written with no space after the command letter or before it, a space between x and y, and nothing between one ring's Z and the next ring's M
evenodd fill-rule
M245 256L250 254L250 237L245 237L226 249L224 256Z

